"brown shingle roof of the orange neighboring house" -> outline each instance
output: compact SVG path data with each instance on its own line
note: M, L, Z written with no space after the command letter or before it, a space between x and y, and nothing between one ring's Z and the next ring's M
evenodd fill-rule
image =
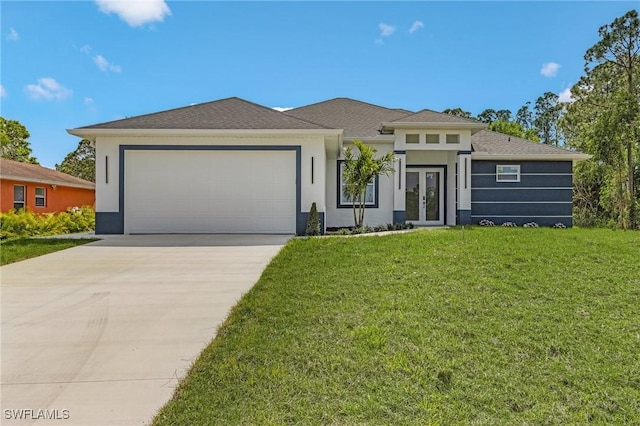
M37 164L7 160L5 158L0 160L0 178L48 185L71 186L75 188L94 189L96 186L93 182L57 170L48 169Z

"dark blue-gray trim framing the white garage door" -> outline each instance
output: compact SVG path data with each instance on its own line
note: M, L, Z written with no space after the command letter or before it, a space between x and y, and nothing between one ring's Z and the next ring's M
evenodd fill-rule
M300 145L120 145L119 146L119 202L118 212L112 213L118 215L117 218L110 217L108 223L104 227L119 230L124 233L124 189L125 189L125 152L126 151L295 151L296 154L296 234L303 235L306 228L306 220L301 214L301 169L302 169L302 147ZM102 220L102 219L101 219ZM116 223L116 221L118 223ZM96 232L98 229L98 213L96 213ZM100 225L102 228L103 225Z

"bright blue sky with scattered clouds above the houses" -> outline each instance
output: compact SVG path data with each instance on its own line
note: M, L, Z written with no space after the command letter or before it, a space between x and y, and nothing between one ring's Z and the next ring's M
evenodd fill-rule
M637 6L2 1L1 115L53 167L79 141L65 129L230 96L515 113L574 84L598 28Z

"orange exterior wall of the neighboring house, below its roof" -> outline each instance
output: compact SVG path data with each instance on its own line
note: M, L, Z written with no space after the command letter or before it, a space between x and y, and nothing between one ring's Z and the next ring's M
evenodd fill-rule
M96 191L94 189L73 188L69 186L44 183L20 182L2 179L0 181L0 210L3 212L13 209L13 187L24 185L26 208L34 213L63 212L70 207L95 207ZM36 187L45 188L45 206L36 206Z

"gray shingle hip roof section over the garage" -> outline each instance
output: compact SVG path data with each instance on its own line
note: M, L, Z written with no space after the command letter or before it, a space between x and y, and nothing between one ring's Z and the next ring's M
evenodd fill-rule
M81 129L322 129L240 98L220 99L182 108L139 115Z

